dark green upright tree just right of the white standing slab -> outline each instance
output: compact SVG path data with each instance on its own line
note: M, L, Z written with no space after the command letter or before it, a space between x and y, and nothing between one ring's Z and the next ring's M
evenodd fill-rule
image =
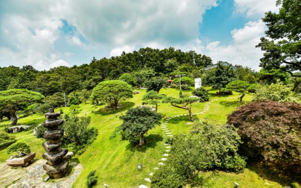
M213 75L213 89L220 90L226 85L235 80L234 68L232 66L223 65L222 62L217 63L217 69Z

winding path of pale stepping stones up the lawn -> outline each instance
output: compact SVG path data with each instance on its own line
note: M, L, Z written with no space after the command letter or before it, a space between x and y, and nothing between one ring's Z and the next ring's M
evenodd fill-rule
M235 97L233 97L233 98L235 98ZM217 100L217 99L216 99L216 100ZM215 101L215 100L214 100L214 101ZM198 112L198 113L196 113L196 114L199 115L199 114L204 114L205 112L207 112L207 111L209 110L209 105L211 104L211 102L212 102L212 101L207 102L207 103L205 104L205 106L204 106L204 109L203 109L201 112ZM196 115L196 114L193 113L192 115ZM168 118L166 118L166 119L164 120L164 123L161 124L161 128L162 128L162 130L165 132L165 134L167 135L167 137L172 137L171 132L170 132L170 131L168 130L168 128L167 128L167 122L168 122L169 120L171 120L172 118L176 118L176 117L180 117L180 116L187 116L187 115L189 115L189 114L173 115L173 116L170 116L170 117L168 117ZM169 144L167 144L167 143L165 143L164 145L166 145L166 148L167 148L167 149L171 148L171 146L170 146ZM166 152L170 152L170 150L166 150ZM162 160L162 161L166 161L166 160L167 160L167 157L169 156L169 154L164 154L163 156L164 156L164 157L161 158L161 160ZM158 164L159 164L160 166L164 165L163 162L159 162ZM155 170L158 170L159 168L158 168L158 167L155 167L154 169L155 169ZM151 173L149 174L149 176L152 176L152 175L153 175L153 172L151 172ZM144 180L145 180L145 181L148 181L148 182L151 182L151 179L150 179L150 178L144 178ZM141 185L141 186L139 186L138 188L147 188L147 186Z

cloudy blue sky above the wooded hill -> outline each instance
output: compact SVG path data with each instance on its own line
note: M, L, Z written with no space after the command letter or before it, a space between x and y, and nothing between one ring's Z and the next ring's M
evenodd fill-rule
M0 0L0 66L73 66L141 47L259 70L276 0Z

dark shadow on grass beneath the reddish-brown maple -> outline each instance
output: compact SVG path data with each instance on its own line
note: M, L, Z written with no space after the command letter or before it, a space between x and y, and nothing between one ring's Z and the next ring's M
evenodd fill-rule
M300 174L296 174L292 171L284 171L276 168L268 167L264 164L250 164L247 166L250 171L257 173L263 179L277 182L282 186L290 186L292 188L298 187L301 185Z

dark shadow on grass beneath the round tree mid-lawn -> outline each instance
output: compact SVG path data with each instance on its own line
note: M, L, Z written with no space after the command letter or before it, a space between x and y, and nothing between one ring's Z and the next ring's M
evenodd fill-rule
M126 150L131 152L138 151L145 153L148 148L155 148L159 141L163 141L163 137L160 134L150 134L144 137L144 145L139 147L139 140L136 143L129 143L126 146Z

